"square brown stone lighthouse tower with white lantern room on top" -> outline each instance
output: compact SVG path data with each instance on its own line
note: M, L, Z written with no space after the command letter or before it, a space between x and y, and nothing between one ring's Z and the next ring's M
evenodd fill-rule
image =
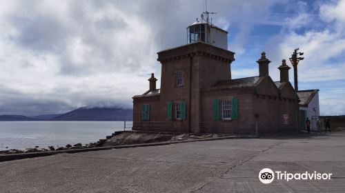
M161 120L171 121L174 128L186 128L185 132L200 131L201 90L231 79L235 53L228 50L227 35L201 17L188 26L186 45L158 52Z

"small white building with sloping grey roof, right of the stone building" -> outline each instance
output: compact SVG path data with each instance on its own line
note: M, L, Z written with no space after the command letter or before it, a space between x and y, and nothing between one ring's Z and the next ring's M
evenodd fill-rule
M306 118L311 120L311 130L317 130L319 111L319 90L299 90L299 128L306 129Z

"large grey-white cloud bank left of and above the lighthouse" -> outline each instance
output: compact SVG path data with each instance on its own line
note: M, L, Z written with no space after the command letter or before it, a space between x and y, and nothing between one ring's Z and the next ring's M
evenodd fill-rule
M221 28L239 25L245 35L249 26L237 14L255 10L246 14L252 21L271 2L215 1L209 9ZM199 0L1 1L0 114L97 103L130 108L131 97L148 89L148 74L160 75L156 52L185 44L186 27L203 6ZM235 46L243 48L244 39Z

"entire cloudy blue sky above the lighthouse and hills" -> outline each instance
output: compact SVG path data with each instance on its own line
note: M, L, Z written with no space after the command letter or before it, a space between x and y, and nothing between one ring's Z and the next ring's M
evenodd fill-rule
M204 0L0 0L0 114L132 108L150 73L160 79L157 52L185 45L204 9ZM257 76L264 51L279 81L282 59L292 67L299 48L299 90L320 90L322 115L345 114L344 10L345 0L208 1L236 53L233 79Z

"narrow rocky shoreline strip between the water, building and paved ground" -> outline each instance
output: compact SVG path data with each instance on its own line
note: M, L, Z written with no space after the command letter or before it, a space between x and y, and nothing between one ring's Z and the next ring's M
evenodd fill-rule
M333 130L334 132L342 132L344 130ZM294 133L286 133L288 135ZM277 136L286 136L286 134L278 134ZM311 137L319 136L317 132L312 132L307 134L305 131L299 131L297 136L299 137ZM272 137L274 134L262 135L262 137ZM275 136L275 137L277 137ZM94 151L94 150L103 150L104 148L116 148L121 146L134 145L148 145L148 144L171 144L171 143L182 143L189 141L209 141L209 140L220 140L220 139L238 139L238 138L260 138L260 136L255 135L241 135L241 134L169 134L169 133L159 133L159 132L140 132L135 130L128 131L117 131L112 133L110 136L106 136L106 139L99 139L96 143L86 143L82 145L81 143L76 143L74 145L67 144L65 147L48 146L48 148L26 148L26 150L0 150L0 156L6 155L15 155L15 154L32 154L32 153L46 153L50 154L59 154L64 152L83 152L85 151ZM277 137L279 138L279 137ZM108 150L108 149L107 149Z

